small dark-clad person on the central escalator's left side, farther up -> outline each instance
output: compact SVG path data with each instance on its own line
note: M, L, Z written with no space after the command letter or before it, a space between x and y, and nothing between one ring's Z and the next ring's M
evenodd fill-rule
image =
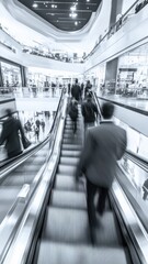
M77 119L78 119L78 101L75 98L70 101L69 105L69 116L72 120L73 134L77 132Z

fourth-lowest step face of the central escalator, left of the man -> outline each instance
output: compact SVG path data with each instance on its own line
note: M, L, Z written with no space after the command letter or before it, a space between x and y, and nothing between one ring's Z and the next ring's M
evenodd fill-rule
M75 190L75 191L84 191L83 184L81 182L76 183L75 177L70 176L56 176L55 189L58 190Z

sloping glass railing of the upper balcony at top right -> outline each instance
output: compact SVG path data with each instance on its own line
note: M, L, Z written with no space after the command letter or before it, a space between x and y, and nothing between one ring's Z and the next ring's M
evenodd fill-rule
M148 0L144 0L143 2L141 0L137 0L124 14L118 15L118 20L105 30L106 33L103 36L99 37L99 42L95 44L93 50L83 58L84 62L95 53L102 42L107 41L112 35L114 35L133 15L135 15L143 8L145 8L147 3Z

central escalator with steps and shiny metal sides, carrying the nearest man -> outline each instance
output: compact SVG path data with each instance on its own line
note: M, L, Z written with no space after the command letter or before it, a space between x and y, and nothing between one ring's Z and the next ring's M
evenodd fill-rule
M82 117L79 107L78 131L73 135L66 106L42 182L24 212L20 232L0 263L147 263L146 231L116 182L103 217L98 216L98 228L90 230L86 183L75 180L83 141Z

